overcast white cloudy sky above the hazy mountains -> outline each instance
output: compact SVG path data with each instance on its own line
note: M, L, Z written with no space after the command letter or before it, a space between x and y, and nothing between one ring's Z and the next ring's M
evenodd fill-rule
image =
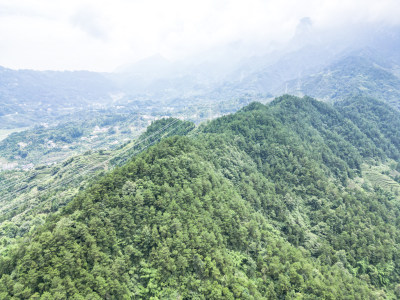
M399 0L0 0L0 66L111 72L238 42L270 51L306 17L322 32L399 16Z

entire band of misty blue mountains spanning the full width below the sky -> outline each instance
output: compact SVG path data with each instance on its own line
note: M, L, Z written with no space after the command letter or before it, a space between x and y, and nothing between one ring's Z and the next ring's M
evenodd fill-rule
M320 32L303 18L292 39L274 50L239 40L175 61L156 54L113 73L1 68L0 123L2 128L32 126L82 108L135 100L176 106L190 99L272 99L285 93L324 101L362 94L398 107L399 50L398 26L365 23L340 33Z

